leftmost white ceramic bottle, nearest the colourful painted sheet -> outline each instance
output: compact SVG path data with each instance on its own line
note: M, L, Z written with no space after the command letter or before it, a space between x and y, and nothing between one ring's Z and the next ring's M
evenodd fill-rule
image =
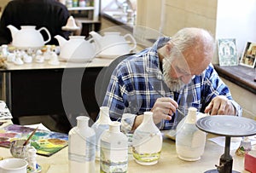
M68 133L69 173L95 173L95 131L88 126L88 117L77 117L77 126Z

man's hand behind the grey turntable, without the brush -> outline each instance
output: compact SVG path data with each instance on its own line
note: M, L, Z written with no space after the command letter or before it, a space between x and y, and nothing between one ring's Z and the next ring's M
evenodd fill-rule
M236 113L231 101L224 95L214 97L205 112L211 115L235 115Z

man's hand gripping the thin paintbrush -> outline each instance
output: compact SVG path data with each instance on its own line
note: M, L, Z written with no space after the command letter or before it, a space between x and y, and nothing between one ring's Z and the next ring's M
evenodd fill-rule
M171 120L172 114L176 112L177 107L177 102L170 97L157 99L154 103L154 107L151 109L154 123L158 124L162 119Z

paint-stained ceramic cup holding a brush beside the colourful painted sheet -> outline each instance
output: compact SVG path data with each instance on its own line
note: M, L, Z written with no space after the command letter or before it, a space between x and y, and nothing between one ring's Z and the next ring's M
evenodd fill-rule
M10 153L15 158L26 159L27 151L31 148L30 143L26 146L23 146L26 140L15 140L10 144Z

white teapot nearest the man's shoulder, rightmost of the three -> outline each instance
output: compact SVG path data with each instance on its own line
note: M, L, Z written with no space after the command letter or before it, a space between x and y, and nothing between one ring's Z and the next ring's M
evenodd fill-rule
M131 53L137 47L135 38L129 33L125 34L125 36L120 36L119 32L104 32L104 36L101 36L97 32L92 31L90 35L96 43L96 53L99 56L125 55ZM129 37L133 44L132 48L129 45Z

